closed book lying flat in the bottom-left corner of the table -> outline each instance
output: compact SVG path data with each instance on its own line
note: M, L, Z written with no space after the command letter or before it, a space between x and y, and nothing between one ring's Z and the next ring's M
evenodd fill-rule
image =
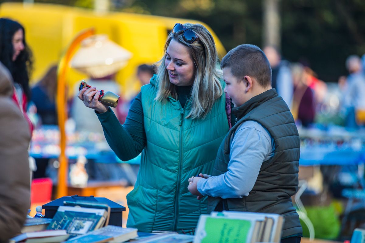
M43 230L17 235L9 242L51 243L62 242L69 237L65 230Z

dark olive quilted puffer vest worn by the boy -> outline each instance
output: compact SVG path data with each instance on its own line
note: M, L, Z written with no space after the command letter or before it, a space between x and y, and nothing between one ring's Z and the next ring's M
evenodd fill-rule
M260 169L254 187L248 196L235 199L208 198L208 212L219 208L230 211L278 213L285 222L281 237L301 236L299 215L293 207L291 196L298 188L300 140L293 116L285 101L270 89L233 108L239 118L218 150L213 176L227 172L230 160L230 141L235 130L245 121L257 121L274 139L274 155ZM217 208L218 209L218 208Z

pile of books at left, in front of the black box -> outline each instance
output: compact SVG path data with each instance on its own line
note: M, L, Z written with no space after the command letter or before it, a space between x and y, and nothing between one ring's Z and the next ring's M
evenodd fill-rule
M64 201L53 219L30 218L22 233L10 242L57 243L57 242L124 242L138 237L137 229L109 226L110 207L102 203Z

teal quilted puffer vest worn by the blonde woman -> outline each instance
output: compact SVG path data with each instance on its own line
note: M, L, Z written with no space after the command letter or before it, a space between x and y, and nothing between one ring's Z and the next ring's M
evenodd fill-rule
M212 171L228 131L225 96L204 119L186 119L191 102L182 109L173 98L154 101L156 79L154 76L141 88L147 144L137 182L127 195L127 227L143 232L190 230L196 227L200 214L207 213L207 199L197 200L188 191L188 179Z

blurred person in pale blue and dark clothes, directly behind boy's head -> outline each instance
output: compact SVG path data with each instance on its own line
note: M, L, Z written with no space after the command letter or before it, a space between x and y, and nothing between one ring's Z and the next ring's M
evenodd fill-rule
M280 52L273 46L263 49L272 70L271 86L290 108L293 98L293 81L289 62L281 59Z

